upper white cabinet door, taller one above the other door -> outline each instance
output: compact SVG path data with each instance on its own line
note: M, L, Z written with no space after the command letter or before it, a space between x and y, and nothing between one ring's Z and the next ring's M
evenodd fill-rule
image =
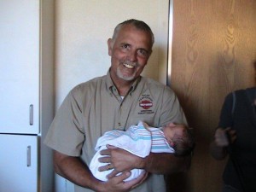
M39 0L0 1L0 133L38 133Z

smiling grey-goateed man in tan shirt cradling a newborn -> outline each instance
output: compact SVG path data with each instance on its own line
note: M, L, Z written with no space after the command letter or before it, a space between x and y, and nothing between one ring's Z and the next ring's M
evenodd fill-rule
M100 170L113 170L107 182L97 180L88 168L97 138L112 127L127 129L139 120L154 127L187 124L174 92L140 76L153 44L154 34L143 21L126 20L116 26L113 38L108 39L108 74L73 88L56 113L45 143L54 149L55 172L75 183L76 192L164 192L163 174L188 169L189 156L150 153L140 158L113 146L101 153L104 157L100 161L108 166ZM145 172L123 182L135 168Z

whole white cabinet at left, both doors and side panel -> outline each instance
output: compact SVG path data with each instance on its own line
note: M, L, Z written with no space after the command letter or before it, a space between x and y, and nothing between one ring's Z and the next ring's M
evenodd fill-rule
M0 0L0 191L51 192L54 1Z

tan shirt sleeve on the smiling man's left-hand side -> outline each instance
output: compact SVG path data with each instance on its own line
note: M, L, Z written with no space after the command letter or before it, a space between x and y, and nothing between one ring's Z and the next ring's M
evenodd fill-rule
M79 156L84 143L82 125L79 102L73 96L73 92L70 92L56 113L44 144L62 154Z

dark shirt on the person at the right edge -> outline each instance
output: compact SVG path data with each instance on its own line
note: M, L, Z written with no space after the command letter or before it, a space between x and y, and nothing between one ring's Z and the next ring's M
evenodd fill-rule
M234 95L233 95L234 94ZM256 191L256 88L236 90L225 97L219 127L236 131L230 144L230 158L224 169L224 183L240 191Z

